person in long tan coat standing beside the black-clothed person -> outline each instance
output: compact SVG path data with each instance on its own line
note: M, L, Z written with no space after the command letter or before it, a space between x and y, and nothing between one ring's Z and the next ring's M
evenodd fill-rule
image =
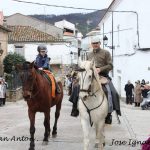
M134 101L135 101L135 107L140 107L140 103L142 102L142 90L141 90L141 84L138 80L135 82L135 88L134 88Z

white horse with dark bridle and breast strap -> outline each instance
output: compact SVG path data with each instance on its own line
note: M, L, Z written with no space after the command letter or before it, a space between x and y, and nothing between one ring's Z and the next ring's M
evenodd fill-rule
M84 135L84 150L89 150L90 128L95 126L95 146L103 150L105 143L104 125L108 113L107 98L102 90L93 61L83 61L79 65L79 112Z

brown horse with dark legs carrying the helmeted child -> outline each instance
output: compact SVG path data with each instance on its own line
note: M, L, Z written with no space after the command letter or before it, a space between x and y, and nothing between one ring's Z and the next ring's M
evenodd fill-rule
M39 73L34 63L25 62L23 65L17 65L22 86L23 97L28 104L28 115L30 119L30 148L34 150L34 133L35 133L35 114L36 112L43 112L45 115L44 126L45 133L43 142L48 144L48 137L50 135L50 109L56 105L55 122L53 126L52 135L57 135L57 121L60 115L61 103L63 99L63 86L58 82L61 94L56 94L52 98L52 86L48 80Z

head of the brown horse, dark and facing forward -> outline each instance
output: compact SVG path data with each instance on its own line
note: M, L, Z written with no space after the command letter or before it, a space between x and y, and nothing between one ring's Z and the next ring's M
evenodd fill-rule
M36 80L34 62L24 62L16 65L22 81L22 94L25 100L30 100L32 97L33 86Z

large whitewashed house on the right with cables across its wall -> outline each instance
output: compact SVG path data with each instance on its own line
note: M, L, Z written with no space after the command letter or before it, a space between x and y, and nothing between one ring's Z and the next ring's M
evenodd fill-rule
M100 38L113 57L113 82L124 97L128 80L150 81L150 1L113 0L100 21ZM105 38L104 38L105 37Z

